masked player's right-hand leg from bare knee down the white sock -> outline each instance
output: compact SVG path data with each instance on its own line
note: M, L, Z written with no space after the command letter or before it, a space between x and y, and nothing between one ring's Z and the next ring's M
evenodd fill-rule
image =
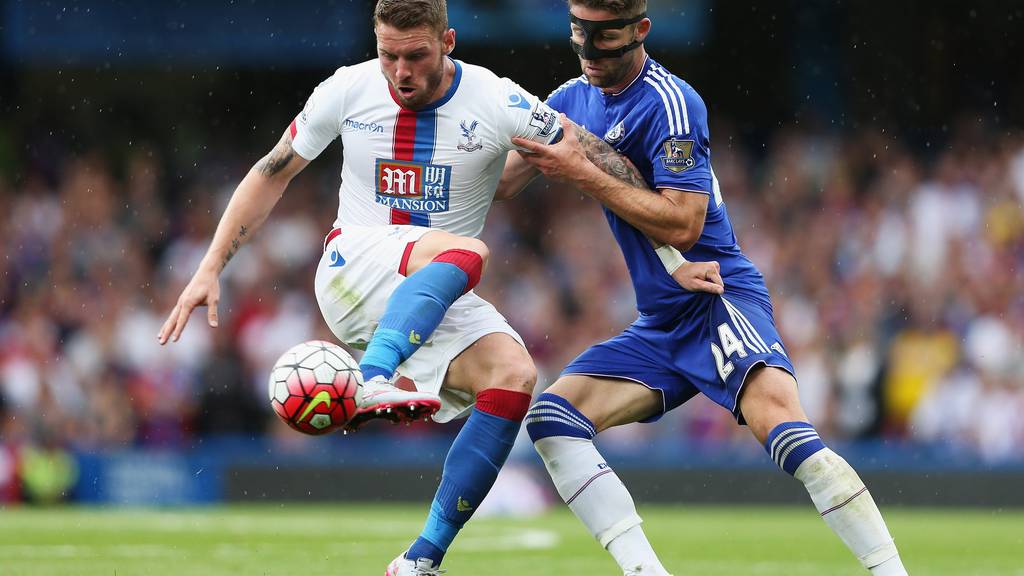
M807 422L793 375L772 367L754 369L739 409L758 442L779 467L804 484L821 518L864 568L877 575L906 574L864 483Z

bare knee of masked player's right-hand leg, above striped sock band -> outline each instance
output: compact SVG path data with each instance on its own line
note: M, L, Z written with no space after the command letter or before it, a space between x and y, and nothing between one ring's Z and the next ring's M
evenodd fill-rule
M746 376L739 396L739 410L748 427L762 444L778 424L807 421L807 414L800 405L796 378L773 366L759 366Z

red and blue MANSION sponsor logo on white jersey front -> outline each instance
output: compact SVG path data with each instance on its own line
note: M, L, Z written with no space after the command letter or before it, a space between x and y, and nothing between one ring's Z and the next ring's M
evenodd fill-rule
M452 167L377 159L378 204L413 212L447 212Z

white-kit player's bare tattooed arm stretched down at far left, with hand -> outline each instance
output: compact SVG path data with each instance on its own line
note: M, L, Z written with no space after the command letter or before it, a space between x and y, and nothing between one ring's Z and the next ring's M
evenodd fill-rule
M169 339L177 341L197 306L206 305L207 322L212 327L217 326L220 272L263 223L288 182L308 163L292 150L292 135L286 130L278 146L249 170L231 195L199 270L161 327L157 335L161 344Z

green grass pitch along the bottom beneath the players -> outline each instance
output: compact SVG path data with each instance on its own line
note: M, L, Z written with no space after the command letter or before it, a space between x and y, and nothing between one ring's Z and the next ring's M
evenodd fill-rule
M380 576L419 532L424 507L6 508L0 574ZM886 511L911 574L1024 576L1024 511ZM810 508L641 512L676 576L865 574ZM444 568L453 576L621 574L562 509L474 520Z

